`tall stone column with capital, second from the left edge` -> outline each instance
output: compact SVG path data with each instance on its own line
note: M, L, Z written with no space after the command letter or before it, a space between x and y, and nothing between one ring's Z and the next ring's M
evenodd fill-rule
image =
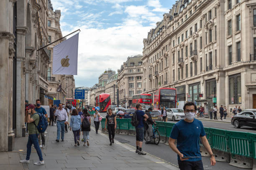
M16 99L16 135L25 137L25 35L28 27L17 26L17 99Z

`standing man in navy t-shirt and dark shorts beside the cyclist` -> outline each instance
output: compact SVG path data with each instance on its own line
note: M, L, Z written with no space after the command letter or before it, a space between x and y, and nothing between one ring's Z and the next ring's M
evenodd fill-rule
M139 155L146 155L142 151L142 143L144 140L144 121L148 119L148 115L145 114L145 112L142 111L142 105L141 103L136 104L136 117L138 120L138 125L135 127L136 129L136 153Z

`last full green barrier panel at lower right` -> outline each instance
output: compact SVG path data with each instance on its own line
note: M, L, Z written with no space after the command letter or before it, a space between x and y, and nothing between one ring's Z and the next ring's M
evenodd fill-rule
M230 153L252 158L250 133L228 132Z

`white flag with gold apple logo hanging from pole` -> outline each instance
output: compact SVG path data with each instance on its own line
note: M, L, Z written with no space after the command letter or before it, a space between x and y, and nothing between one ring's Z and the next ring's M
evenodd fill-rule
M59 43L53 52L53 74L77 75L79 33Z

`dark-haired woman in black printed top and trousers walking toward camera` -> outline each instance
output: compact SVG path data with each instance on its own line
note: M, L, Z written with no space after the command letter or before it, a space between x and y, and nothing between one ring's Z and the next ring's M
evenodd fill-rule
M104 130L106 130L106 126L108 125L108 136L109 136L109 140L110 140L110 144L112 145L112 143L114 143L114 137L115 137L115 129L116 129L116 119L115 119L115 115L112 114L112 109L109 108L108 109L108 115L106 116L106 121L105 121L105 128Z

